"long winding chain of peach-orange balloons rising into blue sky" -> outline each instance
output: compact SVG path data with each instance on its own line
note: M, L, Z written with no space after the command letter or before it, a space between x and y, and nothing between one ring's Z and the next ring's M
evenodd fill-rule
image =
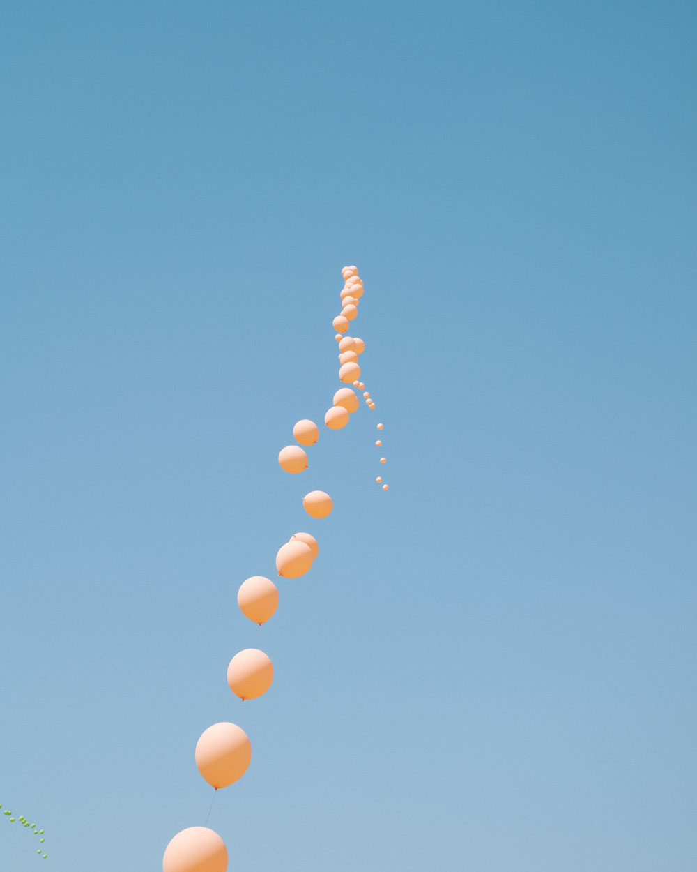
M358 337L348 335L349 324L358 313L363 283L355 266L344 267L342 276L342 312L333 321L335 339L339 343L339 379L345 385L353 385L362 391L366 405L374 410L376 404L360 380L358 356L365 350L365 343ZM340 388L334 395L333 405L324 416L324 423L332 430L341 429L349 423L350 414L359 405L360 400L355 391L350 387ZM382 424L377 425L378 430L382 428ZM296 474L308 467L308 454L301 446L315 444L320 436L319 427L314 421L302 419L294 425L293 436L298 444L281 448L278 462L285 472ZM376 446L382 446L380 439L376 441ZM380 462L385 463L386 458L381 457ZM381 484L382 477L378 476L376 481ZM382 489L387 490L387 484L382 484ZM310 491L305 494L302 505L311 518L318 519L326 518L334 506L331 497L324 491ZM283 578L304 576L318 554L319 545L314 536L309 533L294 533L276 554L278 575ZM237 593L237 603L242 614L260 626L273 617L278 602L278 589L265 576L247 578ZM256 648L239 651L227 667L227 684L243 701L261 697L273 680L274 665L270 657ZM213 724L201 733L194 758L203 778L217 792L220 787L228 787L247 772L247 766L252 760L252 746L247 733L240 726L227 722ZM167 845L162 868L163 872L226 872L225 842L220 835L206 826L183 829Z

